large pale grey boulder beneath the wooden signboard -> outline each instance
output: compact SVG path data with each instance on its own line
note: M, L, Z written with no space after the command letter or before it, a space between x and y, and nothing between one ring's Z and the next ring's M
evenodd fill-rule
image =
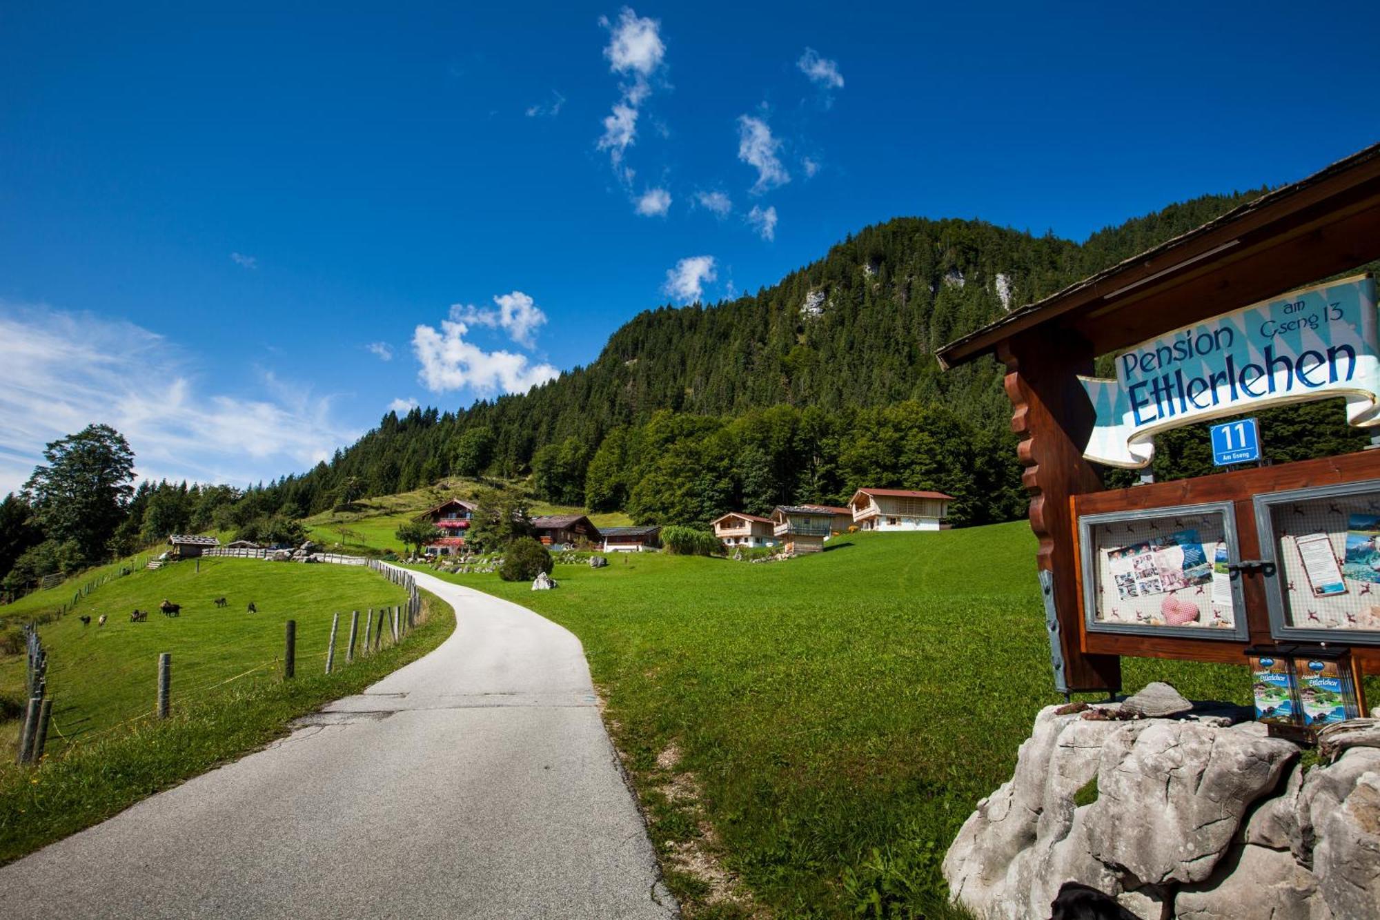
M1380 917L1380 750L1307 771L1300 753L1223 714L1050 706L944 877L984 920L1050 917L1070 883L1144 920Z

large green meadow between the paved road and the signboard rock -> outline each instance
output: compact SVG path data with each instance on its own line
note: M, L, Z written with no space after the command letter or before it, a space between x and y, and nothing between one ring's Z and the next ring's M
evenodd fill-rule
M1060 700L1027 524L835 540L767 565L562 565L555 591L448 576L581 638L654 844L697 916L740 909L676 869L696 847L718 850L777 916L943 913L938 859L1010 776L1039 707ZM1249 699L1245 667L1129 659L1125 673L1127 689L1169 680Z

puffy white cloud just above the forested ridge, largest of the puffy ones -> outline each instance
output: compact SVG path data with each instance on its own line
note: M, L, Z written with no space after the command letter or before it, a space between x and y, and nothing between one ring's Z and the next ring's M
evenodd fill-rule
M422 385L432 392L464 387L482 394L527 392L556 377L551 365L533 365L527 355L509 351L484 351L465 341L468 333L469 327L454 319L443 319L440 332L417 326L413 352L422 366L417 373Z

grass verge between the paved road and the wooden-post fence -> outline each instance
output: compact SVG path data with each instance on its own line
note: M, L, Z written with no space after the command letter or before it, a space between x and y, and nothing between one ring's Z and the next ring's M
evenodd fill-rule
M291 681L232 685L166 721L141 721L46 757L37 768L0 767L0 865L262 747L286 735L294 718L417 660L455 627L450 605L426 593L422 612L422 623L402 644L342 664L334 674L299 670Z

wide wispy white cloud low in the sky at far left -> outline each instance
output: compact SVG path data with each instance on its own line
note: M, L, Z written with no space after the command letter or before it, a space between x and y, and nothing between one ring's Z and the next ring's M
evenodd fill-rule
M197 363L134 323L0 303L0 495L47 442L92 423L128 439L141 477L232 485L305 470L362 434L306 384L261 373L254 395L207 392Z

